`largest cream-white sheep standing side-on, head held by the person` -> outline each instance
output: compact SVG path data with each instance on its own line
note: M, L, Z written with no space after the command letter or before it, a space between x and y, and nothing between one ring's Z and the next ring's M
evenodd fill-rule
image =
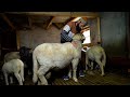
M81 42L84 40L84 36L77 33L73 40L73 42L66 43L42 43L34 50L34 83L40 80L40 82L38 81L40 85L48 85L46 74L48 74L49 70L63 69L70 63L73 66L73 80L78 82L76 71L81 58ZM69 70L68 75L72 78L72 70Z

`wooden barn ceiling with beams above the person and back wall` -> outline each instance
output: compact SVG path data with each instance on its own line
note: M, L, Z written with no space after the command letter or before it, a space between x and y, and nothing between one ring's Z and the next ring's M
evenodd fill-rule
M61 29L76 17L95 18L96 12L5 12L0 14L0 29L31 29L32 25L49 29L51 25ZM8 29L6 29L6 28Z

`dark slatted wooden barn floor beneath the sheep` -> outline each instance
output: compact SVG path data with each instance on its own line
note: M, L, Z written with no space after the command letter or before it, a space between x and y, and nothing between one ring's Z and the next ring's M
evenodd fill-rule
M125 69L109 69L106 70L105 77L100 75L100 71L94 70L94 75L84 72L86 77L78 78L76 83L72 79L64 81L62 78L53 80L51 85L130 85L130 73ZM1 75L2 78L2 75ZM0 79L0 85L4 85L3 79ZM11 85L18 85L17 83ZM34 85L31 77L25 78L24 85Z

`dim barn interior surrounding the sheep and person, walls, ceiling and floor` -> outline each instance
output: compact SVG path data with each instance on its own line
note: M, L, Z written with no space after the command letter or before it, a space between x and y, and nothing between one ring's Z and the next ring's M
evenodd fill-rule
M4 12L0 13L0 85L3 57L21 46L34 50L41 43L60 43L62 28L77 17L88 23L89 42L86 47L100 44L106 53L105 77L99 70L94 75L64 81L56 78L52 85L130 85L130 13L129 12ZM86 54L81 52L81 64ZM12 84L12 85L16 85ZM25 78L25 85L34 85L31 78Z

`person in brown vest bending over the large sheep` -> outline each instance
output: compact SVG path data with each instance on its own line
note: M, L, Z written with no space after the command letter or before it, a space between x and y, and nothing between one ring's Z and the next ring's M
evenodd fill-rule
M61 43L65 43L65 42L72 42L73 41L73 36L78 33L78 32L82 32L82 28L83 26L87 25L87 22L84 22L82 18L78 19L77 22L69 22L67 23L61 32ZM74 44L75 46L75 44ZM64 80L68 80L69 77L67 75L68 73L68 68L64 69ZM79 77L84 77L83 74L83 69L81 67L81 65L79 65Z

